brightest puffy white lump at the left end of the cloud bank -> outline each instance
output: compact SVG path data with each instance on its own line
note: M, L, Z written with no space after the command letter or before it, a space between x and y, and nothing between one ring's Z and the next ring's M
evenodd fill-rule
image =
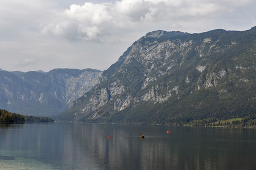
M57 12L59 20L44 26L42 32L69 40L96 40L104 33L104 25L112 19L107 7L93 3L71 5L69 9Z

